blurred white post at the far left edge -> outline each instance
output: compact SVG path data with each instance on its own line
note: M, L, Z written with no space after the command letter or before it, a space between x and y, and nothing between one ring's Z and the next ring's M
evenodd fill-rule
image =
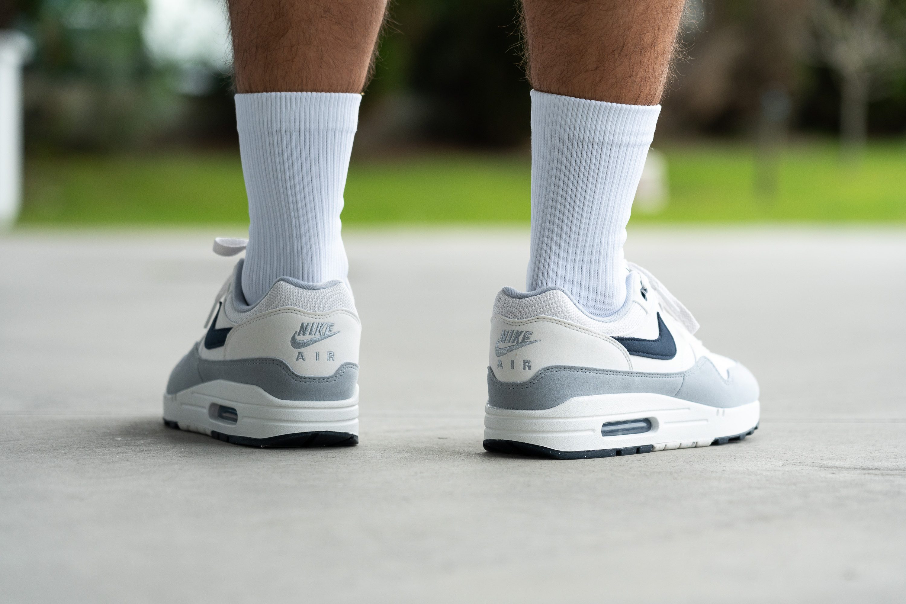
M0 30L0 229L22 206L22 65L31 53L25 34Z

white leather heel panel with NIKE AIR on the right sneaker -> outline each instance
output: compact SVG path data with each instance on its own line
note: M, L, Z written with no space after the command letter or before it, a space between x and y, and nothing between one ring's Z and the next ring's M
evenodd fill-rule
M498 344L505 331L504 341ZM516 335L514 331L523 333ZM538 341L525 343L532 340ZM496 356L497 350L507 348L512 350ZM551 317L512 321L500 315L491 320L488 365L497 379L508 382L531 379L538 369L551 365L632 369L626 350L609 336Z

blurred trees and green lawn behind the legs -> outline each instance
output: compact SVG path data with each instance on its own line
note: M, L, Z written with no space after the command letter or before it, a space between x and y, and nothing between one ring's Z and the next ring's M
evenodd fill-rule
M220 0L0 8L0 28L36 46L22 223L247 221L223 14ZM633 220L906 220L906 0L690 0L687 14L655 140L670 203ZM527 221L518 32L514 0L393 2L347 223Z

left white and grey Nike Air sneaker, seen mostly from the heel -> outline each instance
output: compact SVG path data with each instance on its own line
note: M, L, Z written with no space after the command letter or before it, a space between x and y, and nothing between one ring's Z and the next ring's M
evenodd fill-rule
M242 264L217 294L205 336L170 374L164 423L236 445L357 444L361 323L352 292L342 281L282 278L249 306Z

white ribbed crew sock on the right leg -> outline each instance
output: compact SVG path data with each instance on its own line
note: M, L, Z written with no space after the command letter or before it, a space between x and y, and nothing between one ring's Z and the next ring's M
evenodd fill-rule
M526 290L563 288L593 316L626 299L622 246L660 105L532 91L532 243Z

